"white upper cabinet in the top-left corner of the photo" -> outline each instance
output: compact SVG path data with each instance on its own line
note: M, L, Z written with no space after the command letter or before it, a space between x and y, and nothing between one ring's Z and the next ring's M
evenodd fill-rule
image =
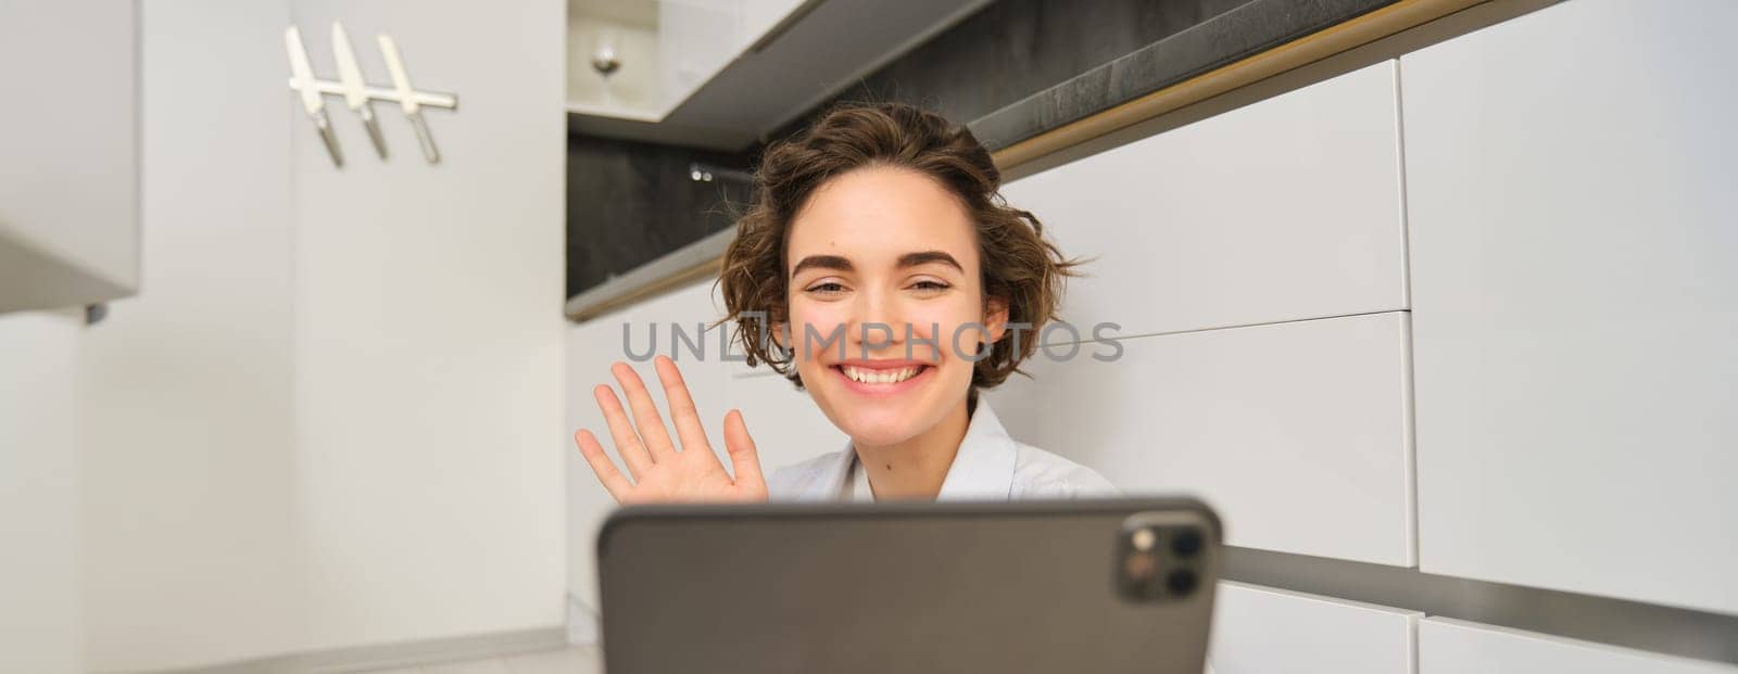
M139 287L134 2L0 3L0 311Z

